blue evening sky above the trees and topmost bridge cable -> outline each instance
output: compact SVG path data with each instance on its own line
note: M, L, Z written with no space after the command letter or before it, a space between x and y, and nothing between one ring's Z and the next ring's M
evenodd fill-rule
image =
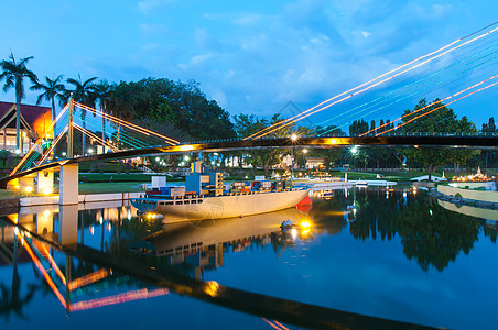
M194 79L231 114L258 116L307 109L498 12L494 0L2 2L0 58L32 55L41 78Z

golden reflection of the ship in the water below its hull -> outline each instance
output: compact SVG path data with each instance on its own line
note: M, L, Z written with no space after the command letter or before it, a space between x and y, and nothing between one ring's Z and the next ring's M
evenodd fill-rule
M285 242L280 224L285 220L297 223L306 218L305 212L286 209L271 216L165 223L160 231L132 243L130 250L162 257L167 265L182 265L184 272L202 278L204 271L223 266L225 252Z

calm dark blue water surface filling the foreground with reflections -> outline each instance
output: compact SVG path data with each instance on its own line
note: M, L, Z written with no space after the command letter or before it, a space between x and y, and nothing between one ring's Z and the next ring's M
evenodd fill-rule
M122 204L4 215L0 327L296 329L344 311L360 328L496 328L497 211L408 188L313 200L164 226Z

